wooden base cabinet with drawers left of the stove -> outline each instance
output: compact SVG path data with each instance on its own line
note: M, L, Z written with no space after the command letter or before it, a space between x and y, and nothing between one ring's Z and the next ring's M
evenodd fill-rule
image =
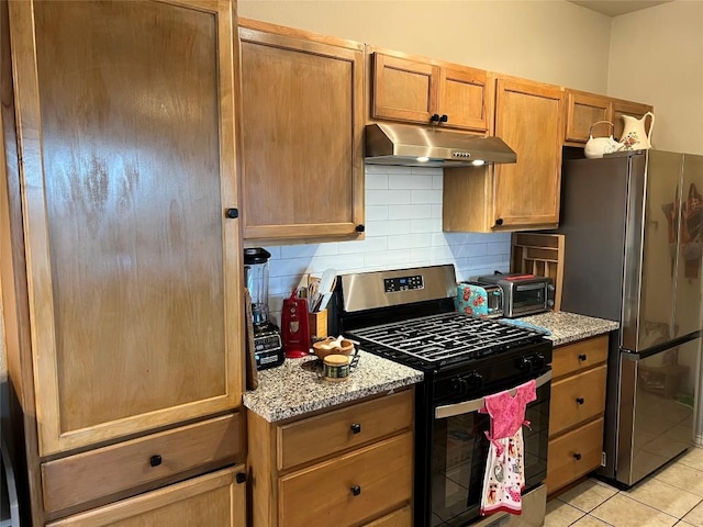
M249 412L254 527L410 525L413 394L281 423Z

